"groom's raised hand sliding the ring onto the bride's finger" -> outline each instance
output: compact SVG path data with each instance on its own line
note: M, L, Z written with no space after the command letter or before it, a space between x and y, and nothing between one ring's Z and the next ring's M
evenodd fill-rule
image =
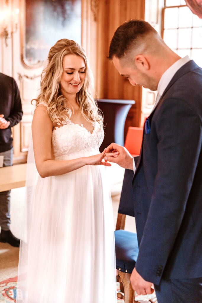
M118 152L118 155L114 155L114 152ZM104 160L117 163L123 168L133 170L133 157L127 151L127 149L116 143L111 143L106 150Z

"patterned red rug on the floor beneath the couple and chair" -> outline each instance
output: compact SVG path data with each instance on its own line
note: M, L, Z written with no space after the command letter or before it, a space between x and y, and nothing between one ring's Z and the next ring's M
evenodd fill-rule
M9 278L5 281L0 282L0 302L1 303L10 303L10 302L16 302L16 294L17 294L17 278ZM119 283L117 283L117 291L120 291ZM121 297L121 293L120 293ZM135 302L136 303L150 303L151 298L154 298L155 294L152 295L146 295L146 296L135 296ZM124 303L124 300L122 298L117 298L117 303Z

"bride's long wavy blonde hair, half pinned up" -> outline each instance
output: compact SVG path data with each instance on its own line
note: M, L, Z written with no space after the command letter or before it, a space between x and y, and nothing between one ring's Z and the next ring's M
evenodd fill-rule
M47 104L47 112L51 121L58 122L58 119L67 121L71 118L72 111L65 106L65 97L61 94L60 79L63 72L62 62L66 55L77 55L85 62L85 80L82 88L76 94L76 102L80 106L84 118L89 121L98 121L103 125L101 112L91 94L93 88L93 76L88 65L88 59L84 49L75 41L60 39L53 45L48 54L48 64L41 74L41 90L35 101L35 105L41 102Z

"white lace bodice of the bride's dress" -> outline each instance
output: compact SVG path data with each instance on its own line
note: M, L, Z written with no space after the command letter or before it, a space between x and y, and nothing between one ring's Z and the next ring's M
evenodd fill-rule
M104 131L98 122L95 122L93 132L90 133L83 125L71 121L52 132L52 154L54 159L80 157L91 152L99 152L104 138Z

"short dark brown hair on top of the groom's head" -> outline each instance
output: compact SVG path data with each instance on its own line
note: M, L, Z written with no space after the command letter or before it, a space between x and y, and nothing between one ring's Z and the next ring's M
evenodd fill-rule
M132 48L141 47L146 35L157 35L156 30L144 20L130 20L120 25L111 40L108 59L122 58ZM151 36L151 35L150 35Z

